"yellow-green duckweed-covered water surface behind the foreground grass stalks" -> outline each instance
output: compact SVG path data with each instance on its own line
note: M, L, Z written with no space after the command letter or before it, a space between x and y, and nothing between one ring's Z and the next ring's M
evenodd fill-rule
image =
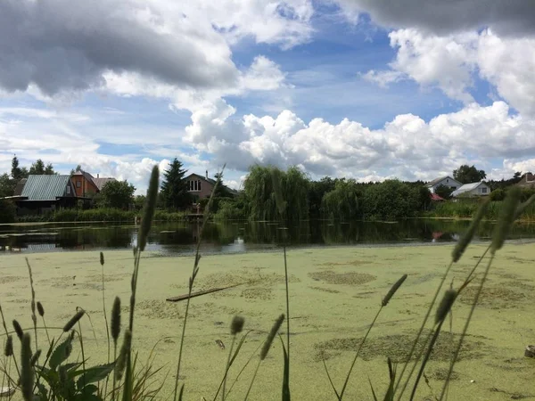
M340 386L355 348L385 292L400 274L408 274L407 281L374 326L355 366L346 397L371 399L368 378L375 389L383 392L388 382L386 357L402 360L410 348L440 274L449 262L451 249L427 246L289 251L293 399L333 399L321 353L324 352L329 371ZM454 266L455 286L483 250L483 246L470 247ZM113 298L118 295L125 300L123 319L128 320L132 252L111 251L104 255L106 305L110 310ZM163 367L158 379L163 380L169 372L161 393L165 398L174 384L179 329L185 312L184 303L170 303L165 299L187 292L193 258L154 256L146 254L141 260L133 348L140 351L140 360L144 362L155 346L154 366ZM243 315L245 331L253 331L229 372L229 383L251 355L258 355L255 350L265 340L265 332L275 317L284 313L282 258L280 253L202 258L195 291L246 283L192 299L181 373L186 399L212 399L216 393L231 343L228 327L233 315ZM98 259L98 252L29 255L36 299L45 307L49 327L61 328L76 307L84 307L91 316L95 336L86 317L81 324L85 353L91 357L92 365L105 362L107 352ZM460 361L455 366L449 399L498 401L531 394L529 383L535 365L533 360L523 357L523 348L533 342L530 340L535 320L533 259L532 245L507 244L497 254L490 282L481 295L480 307L473 315ZM30 328L25 260L21 255L5 255L0 261L0 291L6 320L16 317L23 328ZM462 331L475 286L471 285L455 304L454 333ZM51 337L57 337L61 329L49 328L49 331ZM415 399L434 399L432 393L440 392L451 351L449 327L444 331L425 371L430 387L420 386ZM40 339L46 340L44 335ZM221 340L226 349L219 348L216 340ZM280 342L276 341L261 365L251 400L281 399L282 352ZM72 360L77 358L81 358L78 343L71 356ZM256 359L244 370L228 400L243 399L254 364Z

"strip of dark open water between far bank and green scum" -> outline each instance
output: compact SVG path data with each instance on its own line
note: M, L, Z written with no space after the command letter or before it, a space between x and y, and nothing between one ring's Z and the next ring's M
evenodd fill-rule
M162 255L192 254L201 222L152 226L146 250ZM269 222L208 223L202 235L203 253L240 253L289 247L342 245L399 245L457 241L469 221L408 219L392 222L304 221L284 229ZM489 241L494 223L481 224L474 241ZM44 252L63 250L120 250L136 244L135 225L70 223L0 225L0 251ZM535 224L514 225L509 239L535 239Z

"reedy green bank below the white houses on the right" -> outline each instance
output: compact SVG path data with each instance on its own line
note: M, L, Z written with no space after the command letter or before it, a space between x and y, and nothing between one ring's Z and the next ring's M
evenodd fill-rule
M503 201L491 201L486 218L496 220L503 208L503 204ZM477 201L445 201L437 203L431 211L425 212L424 217L471 218L478 207L479 202ZM525 210L521 220L535 221L535 203L532 203Z

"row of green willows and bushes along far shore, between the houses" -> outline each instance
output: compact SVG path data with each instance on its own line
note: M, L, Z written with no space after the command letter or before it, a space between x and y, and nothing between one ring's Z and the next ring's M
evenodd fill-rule
M250 168L237 198L219 201L216 218L399 220L417 217L429 205L430 192L422 182L358 183L331 177L313 181L296 167L284 171L257 165Z

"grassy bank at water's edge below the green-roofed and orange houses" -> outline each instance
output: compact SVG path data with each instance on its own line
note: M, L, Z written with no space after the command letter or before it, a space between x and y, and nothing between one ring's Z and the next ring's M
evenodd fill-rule
M31 222L119 222L131 223L135 217L139 217L141 211L138 210L121 210L121 209L63 209L54 213L35 216L17 217L17 223ZM169 212L166 210L156 210L154 220L156 221L182 221L185 219L184 212Z

